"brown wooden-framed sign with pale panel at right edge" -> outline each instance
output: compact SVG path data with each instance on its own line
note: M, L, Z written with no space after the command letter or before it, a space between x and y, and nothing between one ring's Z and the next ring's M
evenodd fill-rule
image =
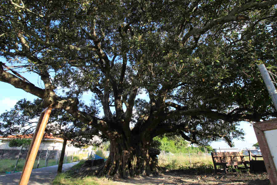
M277 141L277 119L257 122L253 128L263 154L270 183L277 184L277 145L274 144ZM272 136L275 140L267 141Z

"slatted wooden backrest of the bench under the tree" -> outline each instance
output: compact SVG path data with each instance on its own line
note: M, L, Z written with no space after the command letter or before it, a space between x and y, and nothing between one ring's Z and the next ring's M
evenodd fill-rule
M246 161L242 152L211 152L214 162Z

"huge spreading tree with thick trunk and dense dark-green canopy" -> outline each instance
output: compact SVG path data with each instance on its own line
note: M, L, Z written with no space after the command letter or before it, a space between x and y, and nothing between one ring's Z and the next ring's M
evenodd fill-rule
M276 69L276 0L2 0L0 81L110 141L101 175L157 173L155 136L241 138L276 112L257 70ZM14 66L14 67L9 67ZM44 88L21 71L40 76ZM99 103L79 106L83 93ZM142 95L147 98L142 98Z

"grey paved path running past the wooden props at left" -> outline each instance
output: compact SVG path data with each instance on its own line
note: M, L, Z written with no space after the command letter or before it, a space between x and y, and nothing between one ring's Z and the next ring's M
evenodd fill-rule
M62 165L62 171L69 170L78 162L67 163ZM50 182L57 175L58 165L51 167L43 167L32 170L28 185L50 185ZM0 175L0 185L18 185L21 172Z

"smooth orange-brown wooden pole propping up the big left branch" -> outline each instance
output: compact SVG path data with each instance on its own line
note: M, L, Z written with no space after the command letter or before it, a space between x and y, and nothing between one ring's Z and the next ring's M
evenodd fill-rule
M38 125L37 128L35 130L27 157L26 157L26 161L25 161L25 165L23 167L22 170L22 174L21 174L21 178L19 181L19 185L27 185L33 166L34 166L34 162L38 153L38 148L40 146L43 134L44 134L44 130L46 128L46 124L48 122L50 113L52 111L51 107L47 107L46 109L44 109L42 111L42 113L40 114L40 117L38 119Z

